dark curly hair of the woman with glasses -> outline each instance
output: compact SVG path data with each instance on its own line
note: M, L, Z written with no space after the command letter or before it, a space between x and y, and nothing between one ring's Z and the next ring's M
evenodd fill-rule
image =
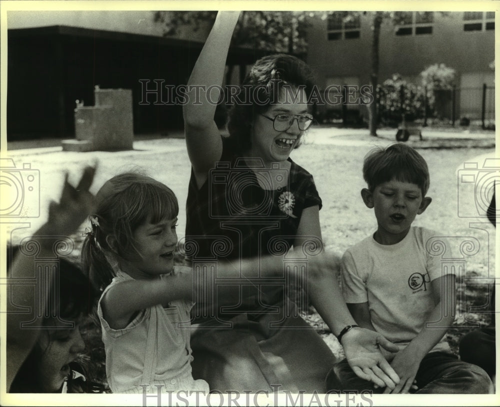
M297 57L286 54L264 56L255 62L241 85L244 96L239 98L245 103L236 103L229 111L227 129L234 151L242 153L251 147L253 117L264 113L277 101L279 91L286 87L301 87L308 98L313 88L311 68Z

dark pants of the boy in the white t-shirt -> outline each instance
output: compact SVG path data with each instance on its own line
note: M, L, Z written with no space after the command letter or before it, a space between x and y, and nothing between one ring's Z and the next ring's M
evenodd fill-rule
M431 352L421 361L415 376L419 394L491 394L493 384L489 376L476 365L458 360L446 352ZM359 379L347 364L337 363L326 377L326 389L368 390L383 393L384 389L373 389L373 383Z

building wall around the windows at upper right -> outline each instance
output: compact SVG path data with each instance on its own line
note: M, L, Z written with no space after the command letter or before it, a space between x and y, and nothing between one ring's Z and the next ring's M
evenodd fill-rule
M465 31L463 12L434 12L432 33L396 35L397 29L384 20L380 29L378 83L398 73L404 79L421 83L420 72L435 63L455 69L457 92L452 113L451 100L446 115L479 119L482 85L486 93L486 116L494 119L495 31ZM362 86L370 83L373 14L361 14L358 38L328 40L327 19L314 18L308 30L307 62L317 73L317 84L324 89L331 84ZM484 26L483 26L484 27ZM451 97L451 96L450 96ZM366 106L348 106L367 115ZM335 110L339 106L326 106ZM449 110L449 111L448 111Z

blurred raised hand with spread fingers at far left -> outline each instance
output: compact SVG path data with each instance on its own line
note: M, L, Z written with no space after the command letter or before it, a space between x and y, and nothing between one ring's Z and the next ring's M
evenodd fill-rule
M85 167L75 188L67 182L66 173L59 203L50 202L44 233L67 236L83 223L94 206L94 196L88 191L94 174L95 167Z

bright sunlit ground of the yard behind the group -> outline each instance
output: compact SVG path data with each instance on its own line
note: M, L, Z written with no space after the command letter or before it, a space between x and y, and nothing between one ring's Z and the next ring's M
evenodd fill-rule
M375 145L384 146L392 143L395 130L380 130L378 134L379 137L374 138L367 136L366 130L316 128L309 131L304 144L291 155L296 163L314 176L323 203L320 211L322 237L326 249L339 255L372 233L376 227L372 210L364 206L359 192L364 187L361 174L364 155ZM437 131L423 134L423 141L410 137L408 143L418 148L428 163L430 171L428 195L432 197L432 203L425 213L417 216L414 224L434 229L442 236L453 236L457 245L466 240L466 237L472 237L477 243L477 250L474 254L461 256L465 262L464 277L480 277L480 280L475 281L476 284L484 281L492 282L495 270L495 229L487 223L482 213L483 209L485 210L484 202L489 199L488 196L490 197L492 191L490 181L495 169L484 168L484 159L494 157L494 135ZM15 223L20 220L9 219L9 222L14 223L7 226L12 231L10 239L13 242L30 235L46 220L48 203L51 199L57 199L64 171L69 171L69 179L74 182L78 179L83 166L96 161L98 170L92 192L96 192L111 176L130 168L140 167L168 185L177 195L181 208L187 196L190 165L184 140L178 138L135 141L132 151L73 153L62 152L59 147L46 147L11 150L9 157L14 160L17 168L22 168L23 163L30 163L31 169L35 170L35 176L39 176L40 185L39 198L34 194L23 203L25 213L33 216L23 219L24 226L27 226L26 222L29 221L30 227L16 229L15 226L20 225ZM468 170L467 174L476 174L476 178L480 181L475 184L462 182L464 178L461 176L465 173L464 162L476 163L477 169ZM486 166L490 164L491 162L486 163ZM493 164L500 166L498 161ZM473 186L476 184L479 188L474 191ZM15 197L11 199L15 200ZM36 216L38 208L40 208L39 216ZM184 228L185 213L181 210L179 238ZM80 236L81 233L75 236L77 246L81 241ZM456 256L456 253L453 256ZM457 325L467 329L472 327L470 321L477 321L480 324L487 324L490 321L489 315L480 310L467 312L467 307L471 304L480 307L485 301L485 286L470 285L471 281L469 279L469 284L460 288L465 297L459 304L462 312L457 319ZM317 327L332 351L340 356L341 349L338 342L331 334L324 331L317 314L311 314L306 319ZM448 338L454 349L458 336L464 332L466 330L458 330Z

